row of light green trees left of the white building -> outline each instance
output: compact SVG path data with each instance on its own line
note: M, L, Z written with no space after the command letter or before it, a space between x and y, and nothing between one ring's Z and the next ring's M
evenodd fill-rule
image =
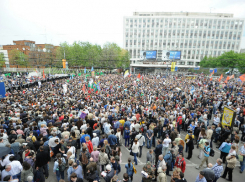
M89 42L61 43L57 49L57 58L68 61L69 67L127 68L130 56L127 50L115 43L106 43L103 47Z

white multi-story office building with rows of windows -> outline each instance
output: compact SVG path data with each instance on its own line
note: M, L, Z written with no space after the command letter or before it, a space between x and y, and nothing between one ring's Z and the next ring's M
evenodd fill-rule
M131 68L166 69L168 62L161 62L163 50L181 51L176 66L194 68L204 56L240 52L244 19L226 13L134 12L133 16L124 17L123 26L124 48L131 55ZM140 51L145 50L157 50L152 64L139 61Z

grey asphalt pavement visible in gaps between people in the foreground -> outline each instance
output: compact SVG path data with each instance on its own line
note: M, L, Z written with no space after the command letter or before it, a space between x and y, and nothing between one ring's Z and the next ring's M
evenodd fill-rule
M181 138L184 139L185 138L185 132L181 131ZM153 148L152 148L153 149ZM128 158L130 157L133 161L133 157L129 155L129 150L123 146L121 146L121 150L122 150L122 164L121 164L121 173L119 173L119 179L123 179L123 174L126 172L125 170L125 164L128 161ZM216 145L214 144L214 151L215 151L215 156L214 157L209 157L209 162L211 162L212 164L215 164L217 158L219 158L220 156L220 151L216 148ZM137 174L134 174L134 182L140 182L142 177L140 172L142 171L143 166L146 163L146 154L148 152L148 149L146 147L143 148L142 150L142 157L139 159L138 158L138 165L135 166L136 170L137 170ZM188 182L194 182L199 171L203 170L204 167L202 167L200 170L197 170L195 167L201 164L201 160L197 158L199 154L199 149L195 149L193 150L193 155L192 158L190 160L185 159L187 167L186 167L186 171L185 171L185 178ZM187 153L184 153L184 156L187 157ZM206 165L206 164L204 164ZM225 168L225 166L224 166ZM55 177L55 175L52 172L53 169L53 162L50 163L50 176L49 178L46 180L47 182L56 182L57 179ZM172 172L170 172L170 174L172 174ZM227 176L228 177L228 176ZM237 163L236 168L233 171L233 181L245 181L244 180L244 173L241 174L239 172L239 163ZM67 181L66 178L66 174L65 174L65 180ZM104 180L101 180L102 182L104 182ZM170 177L168 177L168 182L170 181ZM219 182L225 182L226 180L223 178L220 178L218 180Z

